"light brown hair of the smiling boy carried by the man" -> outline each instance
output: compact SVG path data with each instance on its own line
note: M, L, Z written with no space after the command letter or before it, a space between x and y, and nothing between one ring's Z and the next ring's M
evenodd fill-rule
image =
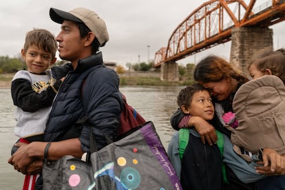
M36 45L45 52L52 54L52 59L56 56L57 43L54 35L48 30L34 28L28 32L25 36L23 51L26 53L31 45Z

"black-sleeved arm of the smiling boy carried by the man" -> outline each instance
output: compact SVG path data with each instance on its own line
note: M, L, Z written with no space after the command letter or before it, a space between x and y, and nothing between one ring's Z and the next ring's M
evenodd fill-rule
M34 92L30 81L18 78L11 83L11 94L14 105L25 112L36 112L37 110L52 105L56 91L61 85L61 80L56 81L53 86L47 87L46 91Z

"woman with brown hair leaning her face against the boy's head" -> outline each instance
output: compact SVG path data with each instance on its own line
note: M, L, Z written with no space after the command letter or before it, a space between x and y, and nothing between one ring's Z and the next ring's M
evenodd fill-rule
M233 112L232 103L235 92L237 92L237 89L242 84L249 81L249 79L241 72L234 70L226 60L213 55L202 59L196 65L193 75L198 83L209 89L213 98L215 116L211 122L212 125L199 116L184 116L180 109L171 117L171 125L176 130L182 127L195 127L201 136L202 142L206 143L207 141L209 145L213 145L217 140L215 129L226 136L231 136L231 131L224 127L225 123L222 116L227 112ZM252 184L245 184L235 176L235 173L229 167L226 167L226 177L229 181L229 184L225 184L226 189L255 189L255 187L258 189L273 189L274 183L284 187L284 176L277 175L285 173L285 159L279 156L273 149L264 149L262 158L264 167L257 167L257 172L272 177ZM261 187L259 183L265 180L267 187Z

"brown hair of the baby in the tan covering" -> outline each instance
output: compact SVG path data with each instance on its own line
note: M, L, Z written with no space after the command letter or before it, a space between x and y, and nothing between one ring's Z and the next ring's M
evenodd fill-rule
M253 60L251 65L255 65L257 70L265 72L271 70L272 74L278 76L285 84L285 54L284 49L264 52L257 59Z

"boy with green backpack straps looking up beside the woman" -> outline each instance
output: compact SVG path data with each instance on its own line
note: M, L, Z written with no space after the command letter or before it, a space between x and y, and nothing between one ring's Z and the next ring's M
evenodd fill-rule
M194 84L182 89L177 102L185 115L200 116L211 123L214 107L209 91L202 85ZM220 154L218 146L203 144L198 132L194 128L190 128L189 142L180 159L179 132L173 134L167 153L178 177L180 177L183 189L224 189L223 161L243 182L254 182L265 177L256 173L254 162L248 164L235 154L233 145L226 135L223 135L223 138L223 158L217 158L216 155Z

